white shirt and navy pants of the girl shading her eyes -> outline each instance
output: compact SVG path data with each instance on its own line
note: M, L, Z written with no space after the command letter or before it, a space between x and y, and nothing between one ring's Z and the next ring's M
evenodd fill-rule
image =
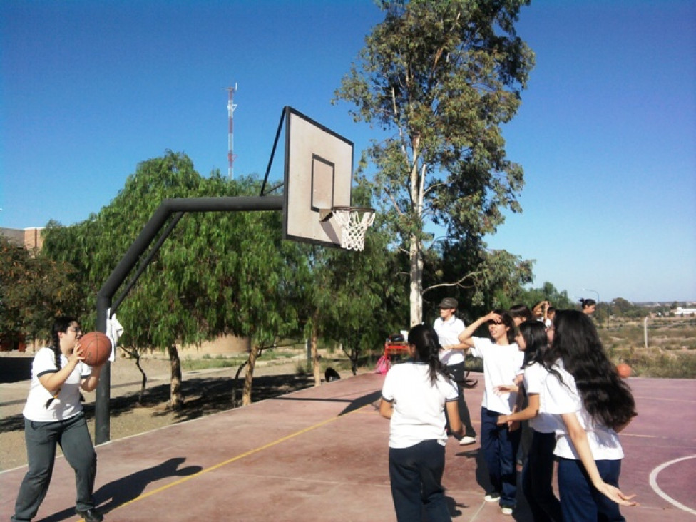
M512 384L524 359L516 343L501 346L485 337L471 337L470 353L483 359L483 400L481 401L481 449L488 466L492 496L500 496L500 506L515 508L517 495L517 450L520 430L498 426L498 416L512 414L516 393L498 395L496 386Z

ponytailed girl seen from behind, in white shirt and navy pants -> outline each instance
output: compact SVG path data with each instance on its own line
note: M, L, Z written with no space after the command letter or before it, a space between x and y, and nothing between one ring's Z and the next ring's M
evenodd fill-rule
M445 466L445 414L461 436L457 385L444 374L440 343L434 329L419 324L409 332L411 362L389 370L382 387L379 413L391 419L389 478L396 519L451 521L442 487Z

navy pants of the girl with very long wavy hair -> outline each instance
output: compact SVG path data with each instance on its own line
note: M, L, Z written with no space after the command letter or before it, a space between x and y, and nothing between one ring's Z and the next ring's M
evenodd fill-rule
M602 480L619 486L621 461L595 461ZM563 522L624 522L619 506L597 491L579 460L559 459L558 491Z

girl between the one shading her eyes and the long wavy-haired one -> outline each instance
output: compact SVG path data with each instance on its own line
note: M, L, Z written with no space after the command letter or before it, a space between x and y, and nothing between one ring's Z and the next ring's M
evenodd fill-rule
M529 421L532 439L527 460L522 470L522 488L531 509L534 522L561 522L561 502L553 493L553 449L556 447L556 424L546 414L543 390L548 369L543 366L543 357L548 352L546 327L537 320L525 321L518 327L515 338L524 351L524 384L528 405L522 411L498 417L498 424L510 421ZM496 388L498 393L518 391L515 384Z

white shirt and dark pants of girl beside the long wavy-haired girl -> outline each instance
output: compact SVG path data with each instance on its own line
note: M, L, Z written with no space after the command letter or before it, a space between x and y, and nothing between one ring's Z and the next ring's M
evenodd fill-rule
M553 493L553 450L556 448L556 421L546 413L548 370L536 362L524 369L524 389L538 394L539 413L529 419L531 446L522 470L522 488L535 522L560 522L561 503Z

